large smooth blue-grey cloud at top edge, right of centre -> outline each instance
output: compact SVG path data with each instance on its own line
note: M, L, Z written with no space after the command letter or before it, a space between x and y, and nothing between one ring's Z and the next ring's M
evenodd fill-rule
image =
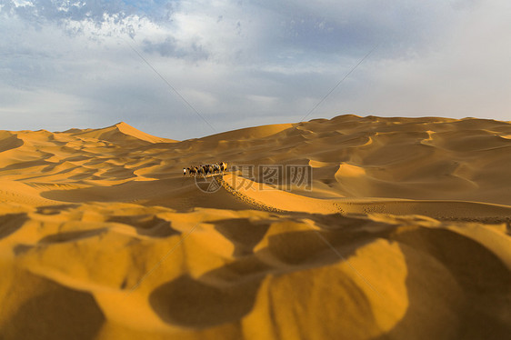
M255 4L264 9L260 13L273 18L266 42L273 45L274 53L306 57L356 57L376 45L382 57L424 53L435 48L438 35L457 21L456 9L447 2L257 0Z

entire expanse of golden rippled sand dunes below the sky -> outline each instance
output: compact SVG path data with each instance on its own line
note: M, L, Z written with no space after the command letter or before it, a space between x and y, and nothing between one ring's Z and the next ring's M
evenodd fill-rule
M505 339L510 169L475 118L0 131L0 339Z

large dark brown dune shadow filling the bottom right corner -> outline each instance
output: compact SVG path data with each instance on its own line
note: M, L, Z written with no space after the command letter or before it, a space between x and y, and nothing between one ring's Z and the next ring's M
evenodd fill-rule
M408 275L409 306L384 339L505 339L511 334L511 272L484 245L446 229L419 228L396 237ZM417 254L418 253L418 254ZM454 278L436 276L434 267L417 265L432 256ZM443 279L442 282L438 280ZM455 290L453 290L455 289Z

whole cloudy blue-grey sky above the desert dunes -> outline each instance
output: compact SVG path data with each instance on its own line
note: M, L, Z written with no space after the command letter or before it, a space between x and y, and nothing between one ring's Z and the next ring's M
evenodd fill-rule
M0 0L0 130L511 120L508 0Z

